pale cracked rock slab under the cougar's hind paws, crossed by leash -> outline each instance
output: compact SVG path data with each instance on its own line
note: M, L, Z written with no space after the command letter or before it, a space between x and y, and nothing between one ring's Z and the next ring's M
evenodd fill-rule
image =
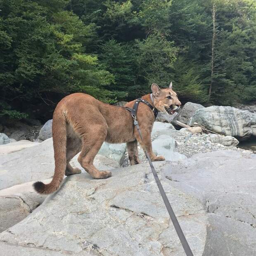
M202 255L207 218L194 197L173 188L154 163L194 255ZM184 255L147 163L94 180L69 176L33 213L0 234L8 255Z

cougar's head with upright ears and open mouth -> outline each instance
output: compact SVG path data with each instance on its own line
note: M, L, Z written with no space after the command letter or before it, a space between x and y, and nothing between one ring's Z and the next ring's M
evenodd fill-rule
M160 89L156 83L151 85L154 107L156 107L157 110L169 115L177 111L181 105L176 92L174 92L172 88L172 82L170 83L169 88L166 89Z

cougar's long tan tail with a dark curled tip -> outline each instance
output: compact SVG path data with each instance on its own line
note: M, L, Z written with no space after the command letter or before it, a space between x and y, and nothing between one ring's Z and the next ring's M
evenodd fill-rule
M36 192L40 194L51 194L55 192L59 188L66 170L66 118L61 113L62 111L56 110L52 120L55 171L52 181L49 184L44 184L40 181L33 184Z

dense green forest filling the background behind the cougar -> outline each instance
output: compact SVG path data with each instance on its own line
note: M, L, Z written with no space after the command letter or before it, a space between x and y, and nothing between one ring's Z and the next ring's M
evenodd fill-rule
M44 119L73 92L129 101L170 81L183 104L256 102L256 1L0 0L0 117Z

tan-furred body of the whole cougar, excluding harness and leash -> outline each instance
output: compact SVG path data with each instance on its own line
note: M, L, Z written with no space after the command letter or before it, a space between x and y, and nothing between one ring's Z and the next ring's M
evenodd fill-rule
M170 85L171 87L171 85ZM170 106L180 106L176 93L167 89L159 89L152 85L154 107L166 112ZM166 97L171 96L168 100ZM153 105L150 95L142 99ZM128 102L126 107L132 108L134 101ZM94 97L74 93L66 96L57 105L52 121L52 138L55 157L55 173L50 184L37 182L34 187L37 192L50 194L59 188L64 174L81 173L79 168L73 168L69 161L81 151L78 161L93 178L105 179L111 176L110 171L98 171L93 160L104 141L109 143L127 143L130 164L139 164L137 141L147 152L152 161L162 161L164 156L156 156L152 151L151 132L154 114L145 104L140 103L137 110L137 120L140 124L144 143L137 130L134 129L130 112L123 108L105 104Z

